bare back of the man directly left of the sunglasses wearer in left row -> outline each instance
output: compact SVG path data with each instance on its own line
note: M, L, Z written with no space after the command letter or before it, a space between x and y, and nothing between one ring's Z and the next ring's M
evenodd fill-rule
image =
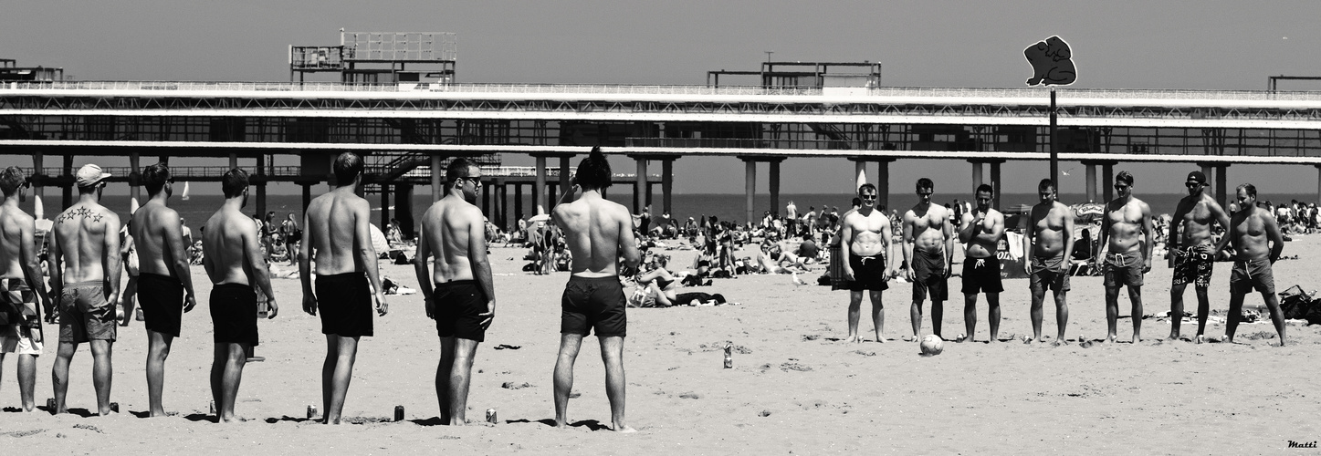
M357 249L371 245L370 232L359 239L359 224L366 224L370 206L350 187L336 188L308 204L304 242L313 249L317 275L346 274L366 270Z

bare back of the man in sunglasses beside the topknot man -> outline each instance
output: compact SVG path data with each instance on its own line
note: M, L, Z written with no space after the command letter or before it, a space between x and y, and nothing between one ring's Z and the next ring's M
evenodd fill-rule
M421 220L425 250L435 256L432 282L470 281L474 278L470 249L486 249L482 212L462 198L449 195L427 210ZM419 254L423 245L419 245ZM425 258L420 258L425 261Z

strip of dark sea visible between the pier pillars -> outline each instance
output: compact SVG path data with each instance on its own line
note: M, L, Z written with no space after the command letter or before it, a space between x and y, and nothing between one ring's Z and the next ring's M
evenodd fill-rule
M621 191L622 190L622 191ZM633 194L629 188L617 188L616 191L608 191L606 198L624 204L625 207L633 207ZM314 198L316 195L313 195ZM1153 214L1172 214L1178 200L1184 198L1182 194L1137 194L1137 198L1145 200L1151 207ZM674 214L671 216L676 219L699 217L699 216L716 216L719 220L732 220L736 223L742 223L745 219L744 204L745 195L741 194L675 194L671 196L671 206ZM942 195L937 194L934 199L938 203L951 203L954 199L960 202L967 200L971 195ZM267 211L275 211L275 220L279 223L288 217L289 214L295 214L295 217L301 217L301 195L267 195ZM839 207L840 212L848 210L853 195L849 194L781 194L779 195L779 214L785 214L785 204L794 202L798 207L799 214L807 214L807 211L815 208L818 212L824 207ZM1316 195L1303 195L1303 194L1260 194L1258 195L1260 200L1271 200L1273 203L1288 202L1297 199L1300 202L1314 202ZM206 223L206 219L215 214L221 207L225 198L221 195L190 195L188 200L184 200L180 195L174 195L169 200L169 206L178 211L180 216L184 217L185 224L189 227L198 227ZM1087 198L1082 194L1063 194L1059 200L1065 204L1086 203ZM46 198L44 199L45 217L52 219L58 212L58 204L61 202L61 194L58 190L46 190ZM373 212L376 214L373 219L374 223L379 223L379 196L370 196ZM244 208L246 212L256 212L255 199L248 198L248 206ZM431 195L413 195L412 208L413 216L419 217L432 203ZM1018 204L1036 204L1036 194L1004 194L1000 198L1001 207L1015 207ZM129 215L128 210L131 206L128 195L106 195L102 204L110 207L119 214L120 220L125 220ZM395 202L391 200L391 211L394 211ZM654 194L651 202L651 214L662 215L660 195ZM890 194L889 208L905 210L917 204L917 195L913 194ZM770 208L770 195L757 194L753 198L753 206L756 207L756 219L760 220L762 212ZM28 200L22 207L32 214L34 210L33 198L29 191ZM491 208L494 210L494 207ZM514 214L513 195L510 195L509 202L509 220L514 224L517 220ZM392 214L394 215L394 214ZM531 196L524 195L523 198L523 217L530 217L536 215L536 210L532 207ZM487 214L490 217L491 214ZM494 217L491 217L494 220ZM301 223L301 219L300 219Z

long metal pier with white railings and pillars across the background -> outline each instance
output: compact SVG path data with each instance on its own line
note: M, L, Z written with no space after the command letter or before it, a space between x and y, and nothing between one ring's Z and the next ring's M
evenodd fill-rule
M889 162L904 158L968 161L971 186L999 187L1005 161L1055 150L1086 166L1090 199L1111 198L1119 162L1197 163L1222 202L1230 165L1321 167L1321 92L1057 94L1052 137L1049 91L1036 88L8 82L0 154L33 157L37 185L63 185L54 177L73 174L73 156L128 156L135 167L140 156L299 156L291 179L304 188L326 182L342 150L379 156L382 179L373 183L382 188L449 157L528 154L534 204L544 204L547 159L559 158L563 187L569 158L601 146L635 159L634 210L650 199L647 166L659 161L666 211L674 161L720 156L746 163L746 220L760 214L752 206L760 163L769 166L775 210L779 163L790 157L875 166L867 174L881 188L878 204L888 204ZM63 157L63 166L48 174L44 157ZM439 174L431 179L439 187Z

